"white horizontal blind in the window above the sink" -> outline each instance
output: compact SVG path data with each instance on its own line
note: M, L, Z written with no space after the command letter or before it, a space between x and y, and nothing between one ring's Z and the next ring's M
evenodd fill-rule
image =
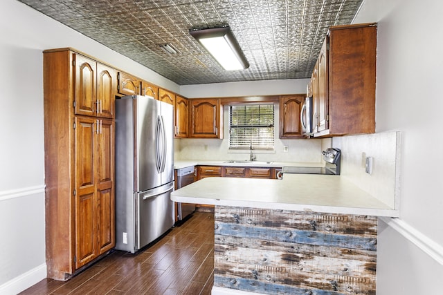
M274 105L242 104L229 106L229 148L274 148Z

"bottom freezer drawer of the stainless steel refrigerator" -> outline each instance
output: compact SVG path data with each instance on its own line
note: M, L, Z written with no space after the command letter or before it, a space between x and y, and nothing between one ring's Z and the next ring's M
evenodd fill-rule
M159 238L174 225L174 202L170 198L173 189L174 182L170 182L136 195L135 251Z

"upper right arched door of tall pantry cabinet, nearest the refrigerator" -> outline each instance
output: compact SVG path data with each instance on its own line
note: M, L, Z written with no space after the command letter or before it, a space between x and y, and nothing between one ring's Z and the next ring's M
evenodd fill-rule
M114 68L97 64L97 100L98 116L114 117L116 99L117 73Z

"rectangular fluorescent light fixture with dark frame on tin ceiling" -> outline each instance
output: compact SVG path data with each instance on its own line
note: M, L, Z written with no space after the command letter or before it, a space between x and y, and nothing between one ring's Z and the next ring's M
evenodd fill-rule
M228 26L189 32L225 70L243 70L249 67L242 49Z

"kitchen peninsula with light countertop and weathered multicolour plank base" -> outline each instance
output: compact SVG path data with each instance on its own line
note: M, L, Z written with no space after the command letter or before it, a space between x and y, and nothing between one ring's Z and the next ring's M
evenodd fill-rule
M171 198L215 205L213 294L375 294L377 217L398 216L338 175L204 178Z

